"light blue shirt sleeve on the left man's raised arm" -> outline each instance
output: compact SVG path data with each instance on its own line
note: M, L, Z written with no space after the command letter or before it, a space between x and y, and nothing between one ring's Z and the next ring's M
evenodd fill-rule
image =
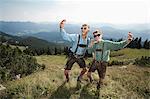
M66 33L65 29L60 29L61 36L63 37L64 40L73 42L75 41L77 34L69 34Z

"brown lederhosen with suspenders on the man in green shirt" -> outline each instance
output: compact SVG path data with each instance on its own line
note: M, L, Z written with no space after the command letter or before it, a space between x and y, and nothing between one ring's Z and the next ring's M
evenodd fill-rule
M96 49L95 50L95 51L102 51L101 60L103 60L103 49L104 49L104 43L102 45L102 49ZM106 74L107 64L108 63L105 62L105 61L93 60L92 64L91 64L91 67L89 68L88 72L95 72L95 70L97 70L99 77L104 79L105 78L105 74Z

